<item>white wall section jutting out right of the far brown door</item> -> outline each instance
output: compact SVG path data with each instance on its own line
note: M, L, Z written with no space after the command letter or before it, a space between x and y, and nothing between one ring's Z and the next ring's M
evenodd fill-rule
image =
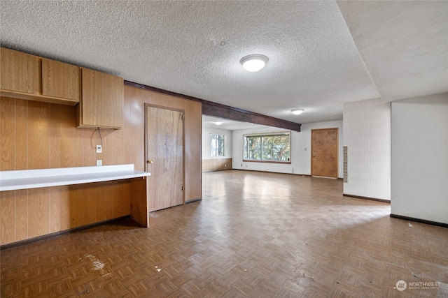
M344 104L347 182L344 194L391 200L391 103Z

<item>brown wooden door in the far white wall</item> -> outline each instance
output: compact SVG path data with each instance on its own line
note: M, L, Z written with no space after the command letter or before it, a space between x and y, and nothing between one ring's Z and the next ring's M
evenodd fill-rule
M311 176L337 178L337 128L311 129Z

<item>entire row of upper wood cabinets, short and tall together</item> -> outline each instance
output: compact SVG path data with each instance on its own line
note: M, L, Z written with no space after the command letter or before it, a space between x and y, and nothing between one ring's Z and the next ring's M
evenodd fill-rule
M123 77L0 47L0 95L76 105L81 128L122 128Z

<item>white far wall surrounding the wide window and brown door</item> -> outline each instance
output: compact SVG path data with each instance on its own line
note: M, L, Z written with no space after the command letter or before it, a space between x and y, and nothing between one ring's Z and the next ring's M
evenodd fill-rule
M342 121L326 121L302 124L301 132L291 132L291 163L255 163L243 162L243 135L248 133L273 133L287 131L284 128L252 128L233 131L232 168L292 174L311 174L311 129L339 128L338 176L344 175L342 168Z

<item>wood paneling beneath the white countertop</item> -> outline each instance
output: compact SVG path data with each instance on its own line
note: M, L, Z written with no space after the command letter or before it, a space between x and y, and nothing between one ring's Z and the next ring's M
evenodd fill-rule
M130 180L0 193L0 244L130 214Z

